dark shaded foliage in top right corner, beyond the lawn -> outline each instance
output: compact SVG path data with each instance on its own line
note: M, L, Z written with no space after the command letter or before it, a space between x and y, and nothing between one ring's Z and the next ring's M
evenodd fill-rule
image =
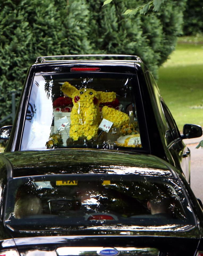
M202 0L187 0L184 11L184 34L196 35L203 33L203 2Z

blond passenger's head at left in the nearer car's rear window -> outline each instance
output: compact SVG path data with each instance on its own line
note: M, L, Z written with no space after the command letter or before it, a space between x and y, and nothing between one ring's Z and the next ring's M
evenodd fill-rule
M43 210L40 198L34 195L26 195L19 198L14 205L14 217L16 219L26 218L32 215L41 214Z

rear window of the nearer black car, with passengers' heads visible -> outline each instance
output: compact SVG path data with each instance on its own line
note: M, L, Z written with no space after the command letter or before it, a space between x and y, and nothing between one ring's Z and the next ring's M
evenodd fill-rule
M175 179L139 175L46 175L9 181L5 223L15 230L101 230L195 225Z

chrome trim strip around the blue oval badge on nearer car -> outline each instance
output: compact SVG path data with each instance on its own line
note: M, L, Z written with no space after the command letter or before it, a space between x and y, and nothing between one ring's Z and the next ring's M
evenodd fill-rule
M159 250L150 247L59 247L56 249L58 256L76 256L76 255L98 255L105 249L113 249L119 252L119 255L129 256L158 256Z

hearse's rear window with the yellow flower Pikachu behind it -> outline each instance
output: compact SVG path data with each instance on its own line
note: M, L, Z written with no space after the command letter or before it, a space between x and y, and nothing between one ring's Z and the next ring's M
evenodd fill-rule
M137 77L133 74L36 74L20 150L142 150L147 136L138 123L138 94Z

